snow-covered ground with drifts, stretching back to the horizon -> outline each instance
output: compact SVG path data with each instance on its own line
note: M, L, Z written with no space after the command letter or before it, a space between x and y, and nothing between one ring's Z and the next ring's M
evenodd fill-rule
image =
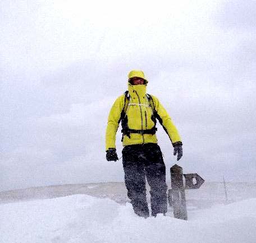
M225 200L222 200L225 193L218 193L219 198L213 200L216 198L213 195L214 188L221 189L219 188L221 184L205 184L202 189L187 191L188 221L173 218L171 208L166 217L158 215L157 218L144 219L136 216L130 203L126 203L126 200L122 199L117 203L110 199L114 197L111 193L115 194L118 186L120 191L123 191L122 184L80 185L80 190L85 187L88 191L93 190L94 196L76 194L79 185L51 187L54 188L55 196L58 196L55 198L53 193L50 193L51 195L49 193L48 195L46 193L36 194L36 188L21 190L20 200L15 196L10 198L11 192L6 191L0 193L2 199L0 204L0 242L255 243L255 190L252 185L246 189L246 184L237 184L236 188L239 188L239 185L243 185L241 188L243 188L244 195L240 196L239 193L237 194L239 190L236 190L234 193L236 198L232 198L232 190L229 185L230 200L226 203ZM97 195L100 186L103 186L105 190L106 188L110 190L106 190L103 198ZM75 188L76 190L74 190ZM111 188L115 190L111 190ZM37 190L42 192L43 188L37 188ZM19 190L16 190L16 196L17 191ZM30 191L30 198L28 198L28 191ZM51 192L49 188L44 188L44 191ZM116 199L124 196L120 191L116 191ZM33 193L34 199L32 198ZM27 195L27 199L26 197L22 198L21 194ZM63 194L70 195L63 197ZM9 196L9 202L6 202L6 199L4 202L4 195ZM39 199L39 195L43 198L48 197L48 199ZM205 195L208 198L202 201ZM210 195L212 196L210 197ZM195 200L196 198L198 200ZM209 203L210 201L212 203Z

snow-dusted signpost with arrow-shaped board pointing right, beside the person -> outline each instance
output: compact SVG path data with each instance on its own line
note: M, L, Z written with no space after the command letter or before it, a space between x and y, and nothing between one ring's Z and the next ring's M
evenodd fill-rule
M183 183L185 177L185 186ZM198 174L182 174L182 167L173 165L171 167L171 185L168 190L168 202L173 207L175 218L188 219L186 209L185 189L198 189L204 183L204 179Z

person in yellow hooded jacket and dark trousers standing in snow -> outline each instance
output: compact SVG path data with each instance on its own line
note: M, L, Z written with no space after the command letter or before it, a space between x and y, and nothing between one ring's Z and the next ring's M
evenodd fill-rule
M173 155L182 156L182 142L166 109L156 96L146 94L148 80L143 71L128 74L128 91L114 102L106 129L107 161L117 161L116 132L122 125L122 164L127 196L134 212L149 217L145 180L150 186L151 215L167 212L166 167L157 144L157 120L171 139Z

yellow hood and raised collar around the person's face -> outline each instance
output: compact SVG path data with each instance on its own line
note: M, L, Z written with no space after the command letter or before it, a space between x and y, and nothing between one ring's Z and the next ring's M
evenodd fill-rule
M144 84L134 85L134 83L131 82L131 79L134 77L142 78L144 80ZM128 90L130 95L136 91L139 96L144 97L146 94L146 87L148 83L148 80L145 78L144 72L140 70L132 70L131 72L129 72L128 78Z

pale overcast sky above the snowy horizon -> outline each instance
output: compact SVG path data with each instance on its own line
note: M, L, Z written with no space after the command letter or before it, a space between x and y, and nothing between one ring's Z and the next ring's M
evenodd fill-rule
M131 69L179 130L184 173L255 181L255 12L239 0L1 1L0 190L122 181L104 135ZM173 148L157 135L169 177ZM120 130L116 146L121 157Z

